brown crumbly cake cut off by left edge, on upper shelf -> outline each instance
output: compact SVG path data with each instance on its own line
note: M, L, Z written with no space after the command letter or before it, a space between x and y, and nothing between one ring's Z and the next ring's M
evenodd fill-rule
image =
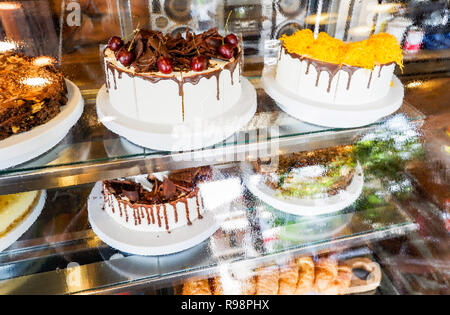
M51 58L0 53L0 140L54 118L67 103L66 94Z

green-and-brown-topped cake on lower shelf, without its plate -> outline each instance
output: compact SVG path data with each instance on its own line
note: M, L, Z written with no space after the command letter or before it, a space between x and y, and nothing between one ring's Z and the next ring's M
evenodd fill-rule
M345 190L352 182L356 165L353 146L296 152L253 163L266 185L280 197L314 199Z

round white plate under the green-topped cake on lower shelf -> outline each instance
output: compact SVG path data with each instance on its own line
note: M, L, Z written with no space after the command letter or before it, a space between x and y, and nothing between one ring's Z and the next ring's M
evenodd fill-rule
M256 174L250 164L244 164L243 168L248 174L246 185L252 194L275 209L294 215L314 216L345 209L358 199L364 186L364 174L358 163L350 185L337 195L320 199L284 198L267 186L264 177Z

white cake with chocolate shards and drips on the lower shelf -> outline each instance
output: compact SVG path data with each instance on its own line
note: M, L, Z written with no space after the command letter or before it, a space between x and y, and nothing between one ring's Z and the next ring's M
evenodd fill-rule
M163 178L141 175L103 182L104 210L120 225L143 232L171 232L202 219L199 184L212 169L173 171Z

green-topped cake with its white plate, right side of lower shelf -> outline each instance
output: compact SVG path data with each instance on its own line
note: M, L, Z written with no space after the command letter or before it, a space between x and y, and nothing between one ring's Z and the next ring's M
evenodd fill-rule
M343 210L358 199L364 186L361 165L350 145L258 158L243 168L252 194L294 215Z

